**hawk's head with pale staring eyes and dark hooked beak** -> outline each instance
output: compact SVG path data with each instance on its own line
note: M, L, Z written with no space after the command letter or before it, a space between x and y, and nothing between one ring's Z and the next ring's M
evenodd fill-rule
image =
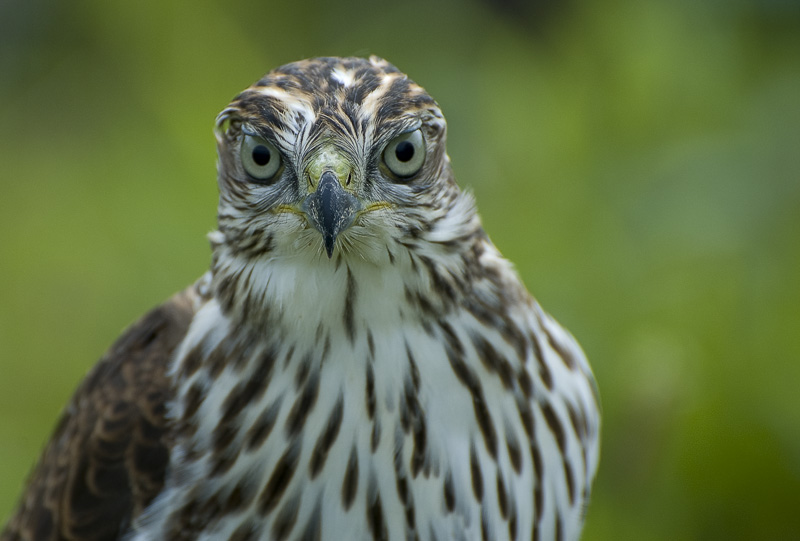
M282 66L217 118L217 247L245 259L392 260L471 223L446 124L422 87L372 57ZM461 204L459 204L461 201ZM462 232L463 233L463 232ZM449 233L448 233L449 234Z

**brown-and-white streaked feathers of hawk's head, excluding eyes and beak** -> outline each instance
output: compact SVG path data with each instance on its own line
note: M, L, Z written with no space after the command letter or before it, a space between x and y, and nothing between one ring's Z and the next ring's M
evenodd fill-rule
M424 161L412 175L398 177L386 166L383 153L393 139L415 130L422 135L417 151L424 152ZM280 170L268 182L254 182L242 167L241 144L248 134L280 153ZM445 121L439 107L422 87L376 57L315 58L268 73L219 115L217 140L220 231L238 252L259 255L276 247L266 238L254 240L255 221L261 220L259 229L266 231L269 224L263 220L273 219L298 235L315 225L318 220L303 203L327 171L334 174L344 197L355 198L350 200L355 216L346 225L356 230L371 213L391 215L398 206L446 205L457 192L445 156ZM415 226L424 222L408 223ZM369 234L365 229L361 233ZM322 247L310 244L312 249Z

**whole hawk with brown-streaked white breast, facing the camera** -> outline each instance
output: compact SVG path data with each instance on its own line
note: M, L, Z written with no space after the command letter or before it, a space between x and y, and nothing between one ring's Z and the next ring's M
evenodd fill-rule
M457 185L437 102L311 58L214 133L210 269L90 370L0 539L579 538L597 385Z

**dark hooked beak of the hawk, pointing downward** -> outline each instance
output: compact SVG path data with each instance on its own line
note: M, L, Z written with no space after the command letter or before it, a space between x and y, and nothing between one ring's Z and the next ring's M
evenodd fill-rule
M306 197L303 211L322 233L329 259L333 256L336 238L350 227L360 206L358 199L342 188L333 171L322 173L317 189Z

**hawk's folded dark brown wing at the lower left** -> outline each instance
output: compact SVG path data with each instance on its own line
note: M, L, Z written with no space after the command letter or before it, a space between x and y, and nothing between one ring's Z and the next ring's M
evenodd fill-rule
M195 288L131 326L64 410L0 541L117 539L161 490L172 446L166 369Z

